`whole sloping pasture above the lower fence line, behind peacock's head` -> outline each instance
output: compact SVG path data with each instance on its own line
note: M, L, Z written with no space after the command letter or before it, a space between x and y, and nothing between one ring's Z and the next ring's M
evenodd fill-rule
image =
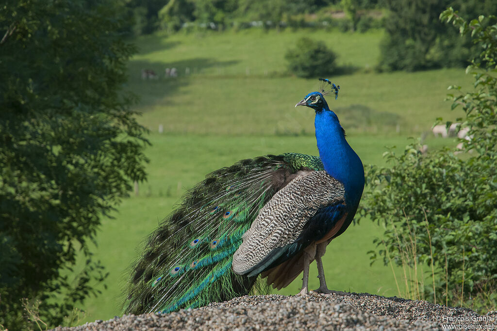
M437 116L462 115L459 110L451 112L444 99L449 85L469 87L471 77L464 70L370 70L377 62L381 32L250 30L140 39L142 53L130 64L129 89L142 97L137 106L144 114L142 123L152 130L162 124L172 133L313 134L308 112L293 106L317 89L318 82L291 76L284 61L286 50L302 36L325 41L338 54L338 63L355 68L330 77L341 90L337 101L329 101L342 121L349 115L340 109L362 105L371 110L368 125L355 128L358 132L389 133L392 128L385 127L386 116L399 124L402 134L420 134L430 130ZM176 67L179 77L164 78L166 67ZM160 79L142 80L142 68L154 69Z

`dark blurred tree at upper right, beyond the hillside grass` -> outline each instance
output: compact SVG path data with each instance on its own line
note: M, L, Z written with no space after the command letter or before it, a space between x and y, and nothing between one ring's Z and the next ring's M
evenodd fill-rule
M466 66L477 55L469 38L460 38L454 29L438 19L452 5L469 17L497 12L492 0L385 0L391 11L385 21L386 37L381 44L381 70L424 70Z

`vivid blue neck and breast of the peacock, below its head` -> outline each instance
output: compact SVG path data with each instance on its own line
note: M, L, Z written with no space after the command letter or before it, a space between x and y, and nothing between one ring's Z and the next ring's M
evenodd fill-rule
M345 140L340 122L328 105L316 111L316 140L326 172L345 188L345 202L357 207L364 189L361 159Z

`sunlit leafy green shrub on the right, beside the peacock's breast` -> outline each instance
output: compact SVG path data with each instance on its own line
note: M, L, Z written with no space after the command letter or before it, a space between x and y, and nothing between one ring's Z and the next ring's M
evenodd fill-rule
M467 71L475 77L475 89L451 94L452 108L466 113L461 127L468 127L470 140L461 139L464 157L456 148L427 155L419 144L400 155L386 153L391 168L368 171L369 190L363 199L362 215L385 222L387 231L372 258L392 258L399 265L403 252L414 240L415 260L431 264L436 275L426 286L430 298L461 301L472 308L495 309L497 304L497 19L480 16L465 22L452 8L440 18L460 27L479 49ZM449 125L450 123L447 123ZM425 269L426 270L426 269ZM476 298L469 301L470 298Z

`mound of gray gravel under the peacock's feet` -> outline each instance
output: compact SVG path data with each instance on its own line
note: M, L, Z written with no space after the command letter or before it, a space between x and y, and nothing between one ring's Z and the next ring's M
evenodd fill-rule
M171 314L124 315L54 330L495 330L496 320L497 312L480 316L426 301L311 293L244 296Z

